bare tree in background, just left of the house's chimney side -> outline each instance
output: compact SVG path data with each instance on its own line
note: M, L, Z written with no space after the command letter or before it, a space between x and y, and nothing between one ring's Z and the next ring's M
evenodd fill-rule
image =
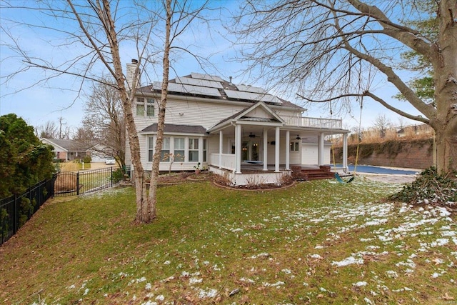
M84 129L93 133L92 146L101 144L98 150L106 156L118 160L125 166L126 129L124 110L119 99L119 92L112 79L94 81L91 93L84 105L82 124Z

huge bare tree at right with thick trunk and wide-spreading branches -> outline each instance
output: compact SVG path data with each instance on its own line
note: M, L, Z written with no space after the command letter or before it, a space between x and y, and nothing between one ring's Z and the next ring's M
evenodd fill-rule
M436 39L405 22L429 19L414 4L248 0L234 32L243 45L242 58L251 63L248 69L287 84L309 102L338 101L344 108L351 99L365 97L429 124L436 132L438 170L457 170L457 2L433 2ZM430 61L436 104L421 99L408 86L409 79L402 79L399 54L408 49ZM402 111L401 102L377 94L380 79L390 82L421 115Z

